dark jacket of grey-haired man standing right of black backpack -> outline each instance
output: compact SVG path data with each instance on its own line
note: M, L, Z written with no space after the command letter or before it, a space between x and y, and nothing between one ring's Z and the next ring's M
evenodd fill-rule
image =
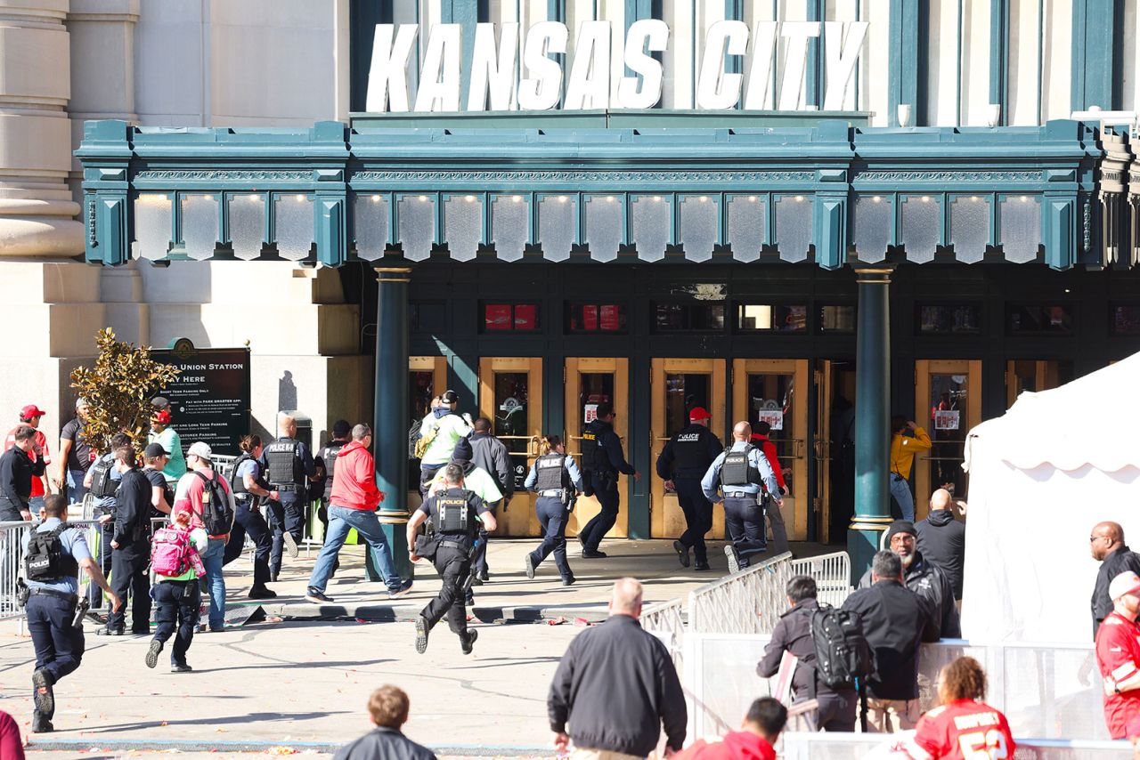
M868 679L868 693L880 700L918 698L919 644L938 640L930 603L897 581L883 580L853 591L844 610L858 613L874 649L876 673Z

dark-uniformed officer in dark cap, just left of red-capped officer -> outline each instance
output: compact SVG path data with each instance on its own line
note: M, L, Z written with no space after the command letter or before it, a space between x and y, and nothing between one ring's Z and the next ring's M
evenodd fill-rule
M597 418L586 425L581 434L581 468L586 471L583 481L586 489L583 492L597 497L602 507L578 533L584 559L605 556L605 553L597 550L597 546L613 528L613 523L618 522L618 473L641 480L641 473L626 461L621 439L613 432L613 407L603 401L597 404Z

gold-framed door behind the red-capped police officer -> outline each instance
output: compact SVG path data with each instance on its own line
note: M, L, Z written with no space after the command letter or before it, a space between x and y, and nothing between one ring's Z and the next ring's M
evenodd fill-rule
M705 407L712 419L709 430L724 441L725 360L724 359L654 359L650 373L652 409L650 467L665 444L689 424L689 411ZM685 532L685 515L677 496L665 490L665 483L653 473L650 490L650 534L653 538L677 538ZM724 510L712 510L709 538L724 537Z

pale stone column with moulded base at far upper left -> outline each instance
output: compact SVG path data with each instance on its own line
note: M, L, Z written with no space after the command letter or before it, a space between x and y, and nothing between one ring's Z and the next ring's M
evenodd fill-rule
M83 252L71 158L68 0L0 0L0 259Z

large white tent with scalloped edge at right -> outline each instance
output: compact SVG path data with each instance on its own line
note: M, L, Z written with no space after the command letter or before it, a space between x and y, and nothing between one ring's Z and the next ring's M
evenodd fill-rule
M970 431L966 638L1091 643L1089 530L1116 521L1140 549L1137 389L1140 354Z

